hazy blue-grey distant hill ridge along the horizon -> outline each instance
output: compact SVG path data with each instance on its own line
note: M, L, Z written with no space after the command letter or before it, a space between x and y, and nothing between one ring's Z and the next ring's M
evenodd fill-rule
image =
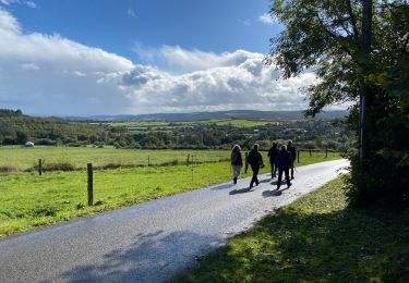
M348 114L345 110L326 111L316 115L316 119L333 120L342 119ZM140 122L140 121L200 121L209 119L257 119L257 120L303 120L304 111L256 111L256 110L230 110L216 112L192 112L192 113L154 113L139 115L93 115L93 116L68 116L69 121L113 121L113 122Z

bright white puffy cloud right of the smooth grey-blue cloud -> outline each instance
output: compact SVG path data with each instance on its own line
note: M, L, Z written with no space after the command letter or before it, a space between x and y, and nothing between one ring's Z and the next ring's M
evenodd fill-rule
M244 50L215 54L163 47L156 57L184 72L135 66L120 77L110 77L131 98L129 111L304 109L299 88L315 82L312 73L284 81L279 71L265 66L263 54Z

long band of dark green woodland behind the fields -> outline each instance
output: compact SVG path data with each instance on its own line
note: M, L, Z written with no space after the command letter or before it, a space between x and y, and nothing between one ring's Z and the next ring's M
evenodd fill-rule
M192 123L189 126L151 127L129 131L109 124L68 122L24 115L21 110L0 110L0 144L24 145L27 140L46 146L115 146L134 149L230 149L254 143L267 150L272 140L293 139L302 149L344 151L351 148L350 133L341 120L302 120L257 126Z

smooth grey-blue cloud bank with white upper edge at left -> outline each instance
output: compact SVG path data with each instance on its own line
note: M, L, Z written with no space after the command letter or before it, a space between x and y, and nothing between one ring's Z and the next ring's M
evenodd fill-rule
M121 112L128 104L116 85L97 81L133 63L58 35L25 34L0 9L0 103L40 114Z

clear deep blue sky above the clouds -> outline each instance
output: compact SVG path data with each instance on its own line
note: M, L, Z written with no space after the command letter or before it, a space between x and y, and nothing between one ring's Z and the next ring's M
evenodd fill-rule
M267 0L43 0L9 10L27 32L60 34L137 61L135 44L266 53L279 25L258 20Z

